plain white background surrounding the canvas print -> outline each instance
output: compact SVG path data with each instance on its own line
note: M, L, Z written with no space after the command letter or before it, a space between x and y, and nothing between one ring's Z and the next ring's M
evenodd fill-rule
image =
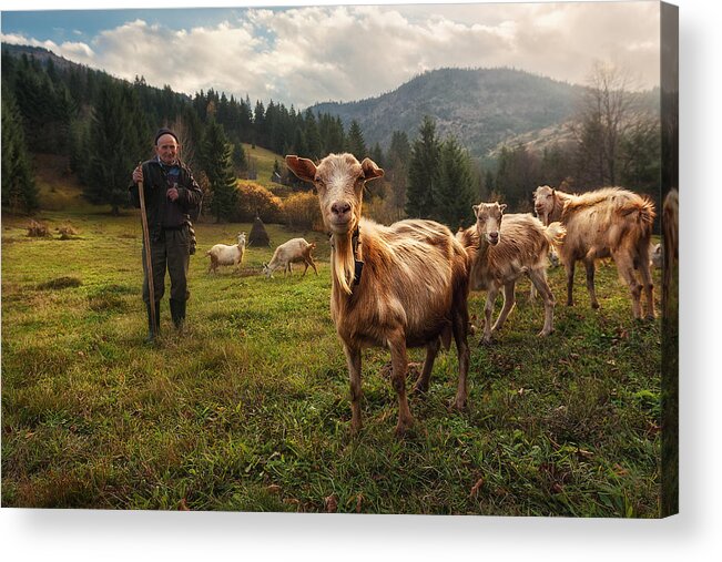
M59 6L0 0L0 9L193 7L200 2L149 3L71 1ZM722 560L722 338L718 327L721 283L716 234L722 221L715 198L722 185L722 20L716 1L673 3L680 7L681 90L680 515L638 521L2 509L0 556L53 562L222 558Z

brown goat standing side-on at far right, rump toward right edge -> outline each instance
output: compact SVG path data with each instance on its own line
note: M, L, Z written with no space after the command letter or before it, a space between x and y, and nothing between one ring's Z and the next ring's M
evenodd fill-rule
M642 316L642 288L647 297L647 317L654 318L654 287L649 268L654 204L620 187L572 195L542 185L537 187L533 197L537 215L545 224L561 221L567 228L559 253L567 270L567 305L573 306L574 264L581 259L587 268L591 306L599 308L594 293L594 260L611 257L629 286L634 318ZM639 270L641 284L634 269Z

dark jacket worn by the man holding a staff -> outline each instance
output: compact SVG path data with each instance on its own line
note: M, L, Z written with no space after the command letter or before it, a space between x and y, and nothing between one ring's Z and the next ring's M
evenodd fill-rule
M203 200L203 192L193 178L191 170L182 162L177 177L179 198L172 202L167 198L170 187L166 180L171 166L161 164L157 159L143 162L143 193L145 195L145 214L151 239L156 239L163 228L180 228L190 225L191 218L197 218ZM140 208L138 184L131 182L129 186L131 203Z

